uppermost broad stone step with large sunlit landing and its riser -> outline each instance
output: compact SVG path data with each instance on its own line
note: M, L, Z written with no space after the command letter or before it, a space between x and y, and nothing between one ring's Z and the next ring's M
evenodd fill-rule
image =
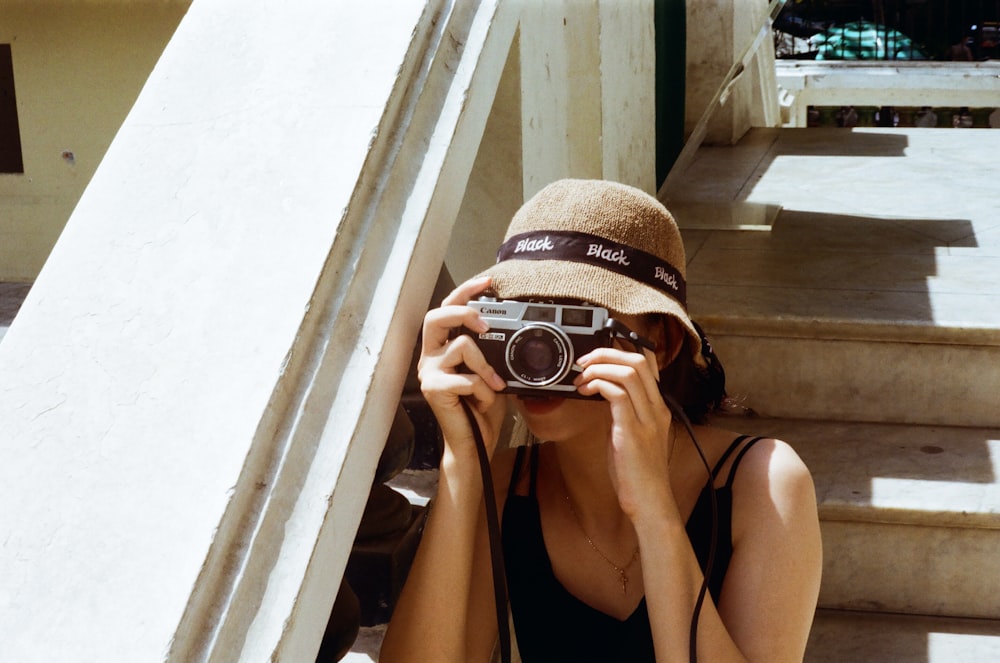
M702 148L666 203L731 392L769 416L1000 426L984 144L1000 132L752 130ZM764 207L779 211L746 220Z

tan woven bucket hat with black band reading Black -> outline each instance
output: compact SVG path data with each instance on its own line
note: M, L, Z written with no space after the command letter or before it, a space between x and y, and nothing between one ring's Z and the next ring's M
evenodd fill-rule
M621 314L670 315L705 366L687 313L680 231L644 191L602 180L549 184L514 215L497 264L482 275L500 299L578 299Z

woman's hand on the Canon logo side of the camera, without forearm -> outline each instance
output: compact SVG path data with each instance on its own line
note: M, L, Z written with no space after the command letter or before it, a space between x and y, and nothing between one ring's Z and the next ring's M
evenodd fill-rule
M452 454L475 453L472 430L459 399L466 398L472 405L490 455L506 411L506 398L498 393L506 387L503 378L486 362L471 336L455 333L461 327L477 333L489 329L479 311L467 306L489 284L489 277L466 281L445 297L439 308L424 316L417 364L420 390Z

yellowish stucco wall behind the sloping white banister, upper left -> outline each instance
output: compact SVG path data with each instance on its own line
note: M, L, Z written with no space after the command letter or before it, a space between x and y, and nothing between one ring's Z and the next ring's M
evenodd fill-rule
M0 175L0 280L38 275L190 3L0 0L24 156Z

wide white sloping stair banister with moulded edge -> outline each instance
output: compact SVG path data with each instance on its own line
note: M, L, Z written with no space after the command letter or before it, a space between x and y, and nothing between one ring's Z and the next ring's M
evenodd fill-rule
M0 344L5 660L315 655L515 6L194 0Z

